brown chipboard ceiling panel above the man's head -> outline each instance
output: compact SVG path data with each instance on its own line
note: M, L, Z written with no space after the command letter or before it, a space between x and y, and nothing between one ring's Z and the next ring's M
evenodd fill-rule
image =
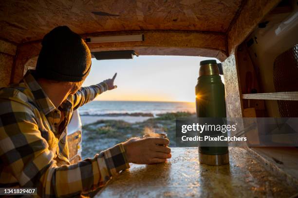
M79 34L187 30L226 33L241 0L1 0L0 38L40 40L59 25Z

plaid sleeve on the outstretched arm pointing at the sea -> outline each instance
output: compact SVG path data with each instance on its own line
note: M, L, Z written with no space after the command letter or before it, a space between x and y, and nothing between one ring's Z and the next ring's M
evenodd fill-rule
M78 107L92 101L99 94L108 90L108 85L106 82L100 82L88 87L81 87L74 95L74 110Z

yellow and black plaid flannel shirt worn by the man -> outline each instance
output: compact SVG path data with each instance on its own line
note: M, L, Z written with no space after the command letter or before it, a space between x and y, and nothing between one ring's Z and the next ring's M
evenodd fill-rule
M129 168L122 144L69 163L66 126L73 110L107 88L105 82L82 87L58 108L35 80L34 70L18 85L1 88L0 187L37 187L39 197L73 197Z

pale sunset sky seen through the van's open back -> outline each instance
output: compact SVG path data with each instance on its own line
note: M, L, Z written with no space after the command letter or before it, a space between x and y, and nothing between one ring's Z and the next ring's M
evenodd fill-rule
M134 56L133 59L92 59L89 76L83 86L117 77L116 89L95 100L195 101L195 86L200 61L214 59L198 56ZM218 63L220 61L217 60Z

